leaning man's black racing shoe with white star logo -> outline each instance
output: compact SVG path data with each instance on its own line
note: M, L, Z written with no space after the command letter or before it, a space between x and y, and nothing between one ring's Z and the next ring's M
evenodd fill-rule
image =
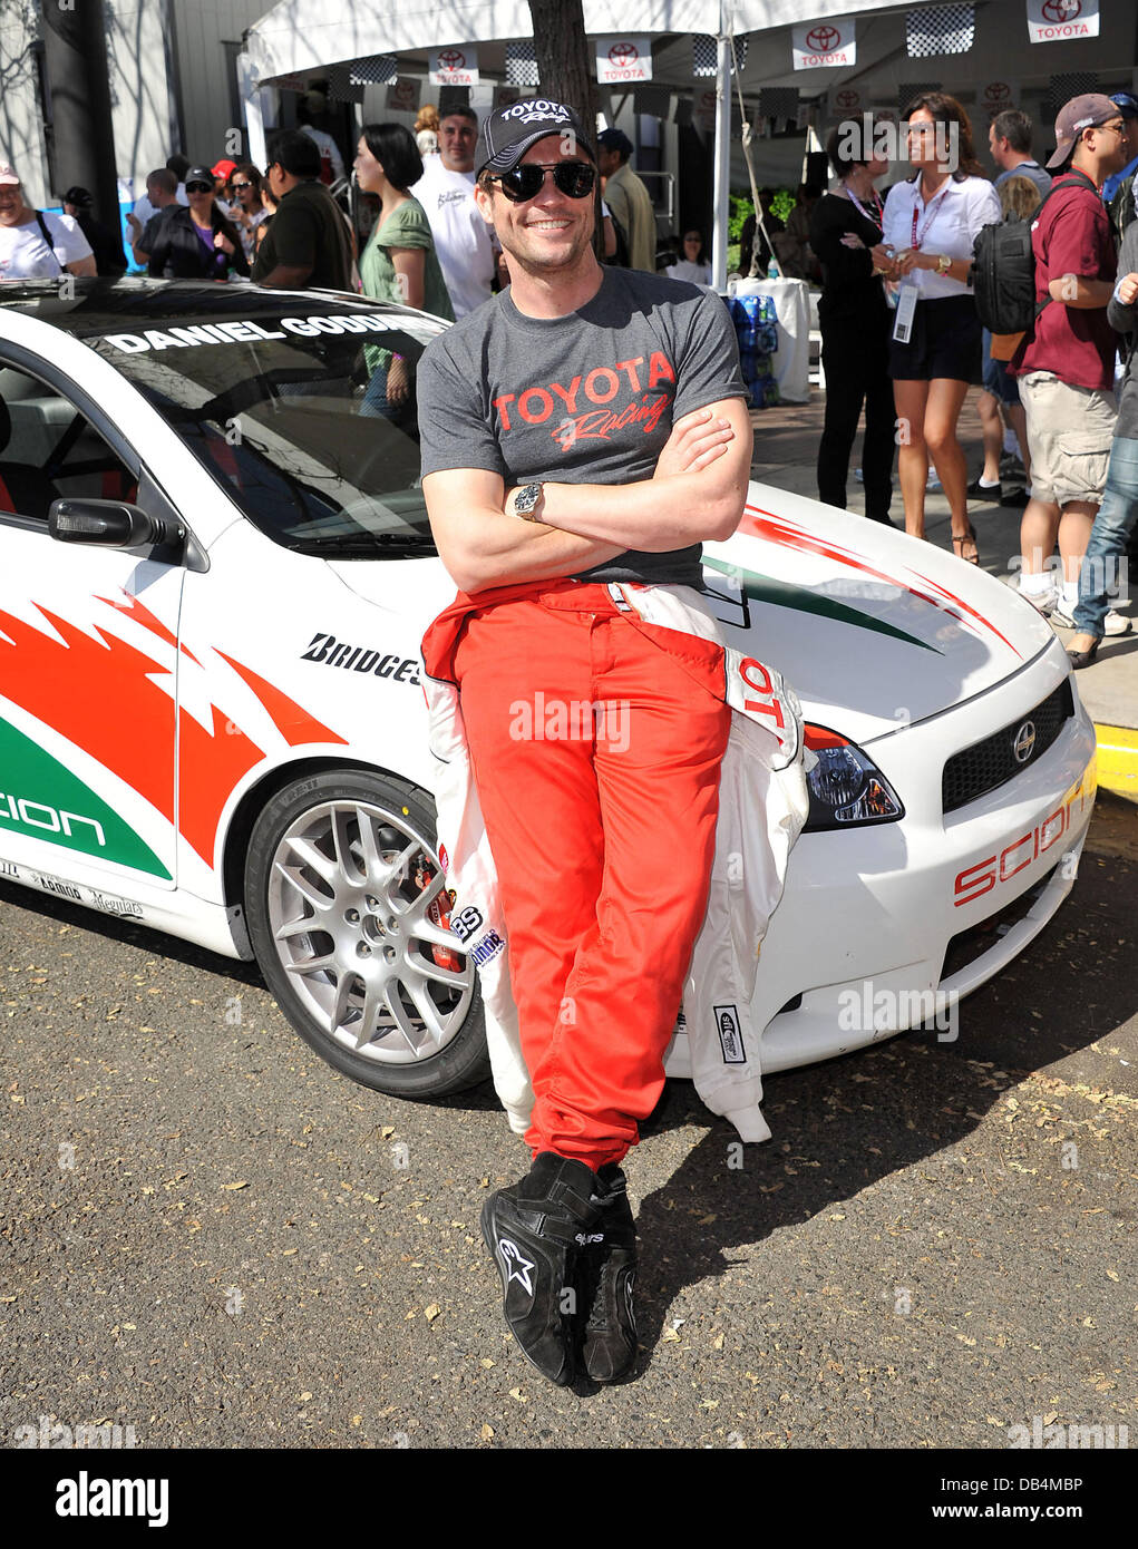
M596 1173L584 1162L542 1151L526 1177L482 1207L506 1326L530 1365L559 1388L574 1377L578 1258L596 1230Z

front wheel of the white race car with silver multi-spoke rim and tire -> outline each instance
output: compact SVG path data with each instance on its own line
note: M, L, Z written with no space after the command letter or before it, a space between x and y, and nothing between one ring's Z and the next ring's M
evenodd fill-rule
M257 818L245 909L257 963L320 1058L396 1097L489 1075L477 971L449 929L435 809L362 768L277 792Z

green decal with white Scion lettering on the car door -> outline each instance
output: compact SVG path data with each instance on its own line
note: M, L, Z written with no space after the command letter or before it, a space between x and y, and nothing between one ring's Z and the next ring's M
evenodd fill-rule
M150 846L90 785L6 720L0 720L0 829L170 880Z

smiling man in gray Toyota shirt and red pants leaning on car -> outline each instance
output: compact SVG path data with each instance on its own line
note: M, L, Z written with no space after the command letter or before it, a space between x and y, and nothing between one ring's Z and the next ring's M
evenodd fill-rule
M460 689L534 1092L533 1166L486 1202L483 1235L531 1365L568 1383L581 1338L612 1382L636 1354L619 1163L663 1090L731 717L722 651L715 683L708 640L638 629L613 586L700 587L701 539L743 513L751 428L722 301L598 263L596 152L571 108L499 108L475 164L511 285L427 347L418 400L460 587L424 660ZM511 726L519 703L570 700L626 713L624 736ZM669 813L683 844L661 843Z

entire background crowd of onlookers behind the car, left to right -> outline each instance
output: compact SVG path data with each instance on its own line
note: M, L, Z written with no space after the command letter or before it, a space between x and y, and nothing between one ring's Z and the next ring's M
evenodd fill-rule
M743 228L740 268L752 271L757 259L762 271L763 260L777 260L783 274L821 280L821 499L845 507L864 409L865 514L890 522L896 460L906 531L924 536L932 483L949 505L954 551L979 564L969 503L1022 507L1020 590L1070 626L1118 423L1115 330L1130 322L1130 304L1116 248L1133 223L1138 99L1126 91L1076 98L1056 121L1057 149L1047 169L1031 153L1027 113L999 113L988 133L994 178L952 96L926 91L904 118L909 172L884 200L876 184L890 169L876 125L873 133L862 127L861 147L848 125L835 129L827 143L833 187L800 186L785 223L774 215L773 191L762 189L763 218L752 215ZM427 104L413 133L393 122L364 127L353 175L375 204L375 222L362 251L345 206L333 198L345 169L319 90L305 93L302 119L274 136L263 172L248 161L206 166L181 155L155 169L127 217L135 265L156 277L355 288L446 319L464 318L509 282L475 198L478 116L471 107L440 115ZM596 136L601 260L708 287L703 232L691 228L661 245L632 156L622 130ZM121 274L122 243L94 220L91 203L88 191L70 187L62 215L39 211L15 170L0 166L0 277ZM1040 294L1025 335L983 328L971 285L975 239L1003 218L1033 223ZM1057 294L1065 276L1078 279L1070 297ZM379 404L392 412L406 395L399 362L376 347L370 356L367 412ZM958 437L971 386L982 387L983 465L974 477ZM1000 474L1013 449L1022 488L1005 488ZM1116 479L1123 462L1119 454ZM1105 505L1115 510L1113 499ZM1053 582L1056 542L1062 575ZM1096 541L1099 568L1101 558ZM1073 654L1093 657L1101 632L1123 627L1112 610L1101 618L1084 609Z

